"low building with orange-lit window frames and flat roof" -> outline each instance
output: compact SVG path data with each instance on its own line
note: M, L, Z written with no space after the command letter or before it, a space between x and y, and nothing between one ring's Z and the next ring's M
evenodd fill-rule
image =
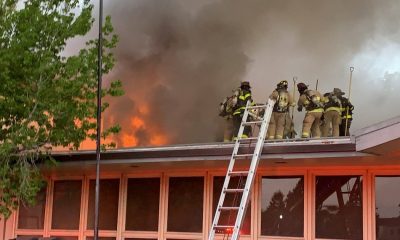
M104 153L101 239L207 239L232 149ZM48 184L37 205L0 223L5 239L93 238L95 152L55 157L58 166L43 169ZM267 141L241 239L400 239L400 117L351 138Z

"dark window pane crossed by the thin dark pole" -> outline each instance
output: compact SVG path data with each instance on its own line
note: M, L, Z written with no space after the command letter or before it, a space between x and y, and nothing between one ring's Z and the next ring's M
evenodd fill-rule
M96 180L90 180L88 229L93 229L94 226L95 186ZM99 228L117 230L119 179L100 180L99 198Z

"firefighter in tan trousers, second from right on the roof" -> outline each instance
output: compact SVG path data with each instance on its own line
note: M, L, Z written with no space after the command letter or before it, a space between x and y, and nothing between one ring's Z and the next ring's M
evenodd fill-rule
M332 137L339 137L339 126L341 123L342 103L340 101L344 92L334 88L333 92L324 94L324 121L322 124L322 136L328 137L332 127ZM332 125L332 126L331 126Z

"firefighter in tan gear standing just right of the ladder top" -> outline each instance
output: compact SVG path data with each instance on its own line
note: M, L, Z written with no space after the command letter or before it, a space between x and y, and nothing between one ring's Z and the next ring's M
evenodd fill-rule
M272 110L271 120L269 121L267 136L268 139L282 139L286 126L286 119L289 116L289 107L293 106L293 98L288 92L288 82L280 81L276 85L276 89L269 96L275 100L275 105Z

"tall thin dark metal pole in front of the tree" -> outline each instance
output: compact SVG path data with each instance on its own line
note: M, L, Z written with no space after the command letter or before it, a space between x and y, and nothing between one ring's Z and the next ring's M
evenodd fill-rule
M102 53L103 53L103 0L99 6L99 39L97 51L97 132L96 132L96 193L94 208L94 240L99 238L99 192L100 192L100 141L101 141L101 82L102 82Z

